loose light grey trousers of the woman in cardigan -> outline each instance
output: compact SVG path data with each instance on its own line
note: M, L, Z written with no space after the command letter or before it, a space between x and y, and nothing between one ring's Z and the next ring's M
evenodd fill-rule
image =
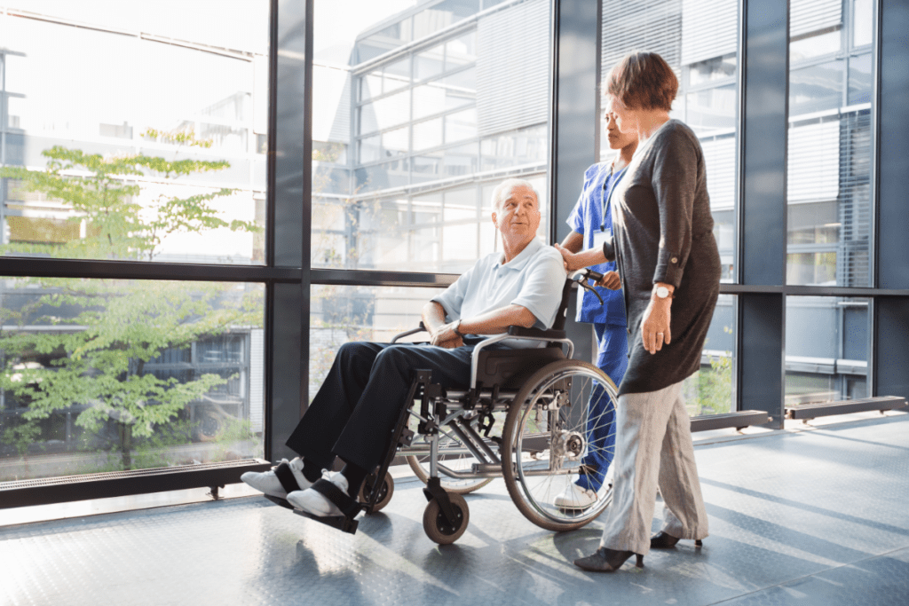
M691 419L682 383L619 397L613 462L613 502L605 512L600 545L650 551L656 488L665 503L664 527L679 539L704 539L707 512L694 464Z

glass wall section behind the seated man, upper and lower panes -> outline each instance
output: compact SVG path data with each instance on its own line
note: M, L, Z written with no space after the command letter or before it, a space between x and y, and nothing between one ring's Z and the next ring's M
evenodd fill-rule
M314 268L453 280L501 250L510 176L534 184L545 240L549 2L316 0L314 23ZM437 292L314 285L310 395L342 343L415 327Z

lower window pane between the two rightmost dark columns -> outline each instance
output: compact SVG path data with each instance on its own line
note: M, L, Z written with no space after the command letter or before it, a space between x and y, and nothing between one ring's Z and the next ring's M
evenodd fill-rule
M786 406L868 397L868 304L786 297Z

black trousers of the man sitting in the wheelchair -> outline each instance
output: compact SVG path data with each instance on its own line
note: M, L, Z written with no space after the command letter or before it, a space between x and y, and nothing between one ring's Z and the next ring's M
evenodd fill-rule
M496 345L491 348L499 349ZM409 403L413 372L430 370L433 382L444 388L464 388L473 351L474 344L443 349L426 343L345 343L287 446L323 469L331 469L336 455L372 471L388 452L395 422Z

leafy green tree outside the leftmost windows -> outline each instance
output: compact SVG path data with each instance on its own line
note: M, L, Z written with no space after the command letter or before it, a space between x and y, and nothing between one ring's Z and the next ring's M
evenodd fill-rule
M3 254L43 254L59 258L152 260L167 236L204 233L216 228L255 232L255 224L226 221L212 203L234 194L217 189L205 194L165 194L136 198L150 178L175 184L190 174L222 171L223 160L178 158L182 148L207 147L192 132L149 130L146 137L175 144L173 158L145 154L103 156L55 146L43 154L44 171L0 168L0 177L17 180L27 191L45 194L71 209L69 221L84 224L83 236L64 243L10 243ZM149 199L150 198L150 199ZM22 415L37 422L54 412L78 406L75 424L95 435L110 433L110 448L120 453L123 469L135 466L136 440L152 438L155 429L173 422L190 402L227 379L214 373L190 381L157 377L145 364L167 349L181 350L205 335L232 326L262 322L259 291L233 285L189 282L135 282L64 278L24 279L35 293L29 303L7 309L18 330L0 333L4 372L0 389L27 402ZM20 281L21 282L21 281ZM2 303L2 302L0 302ZM0 305L2 306L2 305ZM25 325L59 327L28 332ZM67 325L83 327L68 329ZM49 364L23 364L35 358ZM14 370L14 366L18 370ZM35 368L35 366L39 366ZM20 435L21 434L21 435ZM23 432L4 435L21 452Z

